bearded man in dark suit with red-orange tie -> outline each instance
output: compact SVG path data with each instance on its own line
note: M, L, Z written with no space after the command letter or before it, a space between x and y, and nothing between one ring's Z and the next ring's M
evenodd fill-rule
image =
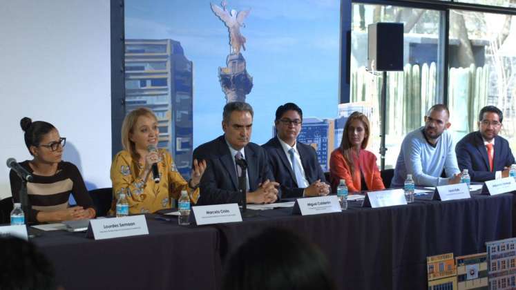
M509 176L510 165L515 161L507 140L498 136L503 119L499 108L485 106L479 113L479 131L469 133L457 143L459 168L468 169L472 181Z

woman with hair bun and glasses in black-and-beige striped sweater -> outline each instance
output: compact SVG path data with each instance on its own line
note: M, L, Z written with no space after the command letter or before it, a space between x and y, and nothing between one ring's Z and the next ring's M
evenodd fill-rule
M95 209L79 169L62 160L66 138L59 135L57 128L48 122L24 117L20 121L25 132L25 144L32 160L20 165L32 174L27 183L29 210L27 222L61 222L95 218ZM15 171L9 173L12 198L20 201L20 177ZM68 204L73 194L77 206Z

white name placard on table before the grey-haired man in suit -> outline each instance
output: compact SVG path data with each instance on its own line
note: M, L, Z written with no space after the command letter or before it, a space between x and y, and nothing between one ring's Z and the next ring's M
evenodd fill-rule
M225 222L242 222L238 204L214 204L209 206L192 206L195 223L223 224Z

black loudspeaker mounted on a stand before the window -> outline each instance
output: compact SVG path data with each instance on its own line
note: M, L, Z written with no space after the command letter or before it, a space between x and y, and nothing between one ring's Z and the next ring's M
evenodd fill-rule
M403 70L403 23L370 24L367 39L369 70Z

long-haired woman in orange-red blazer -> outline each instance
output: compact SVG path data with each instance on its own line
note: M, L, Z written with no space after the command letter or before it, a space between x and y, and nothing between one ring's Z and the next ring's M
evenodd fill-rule
M354 112L347 118L341 146L332 152L329 159L334 192L340 180L346 181L350 192L385 189L376 166L376 156L365 150L369 132L369 120L362 113Z

